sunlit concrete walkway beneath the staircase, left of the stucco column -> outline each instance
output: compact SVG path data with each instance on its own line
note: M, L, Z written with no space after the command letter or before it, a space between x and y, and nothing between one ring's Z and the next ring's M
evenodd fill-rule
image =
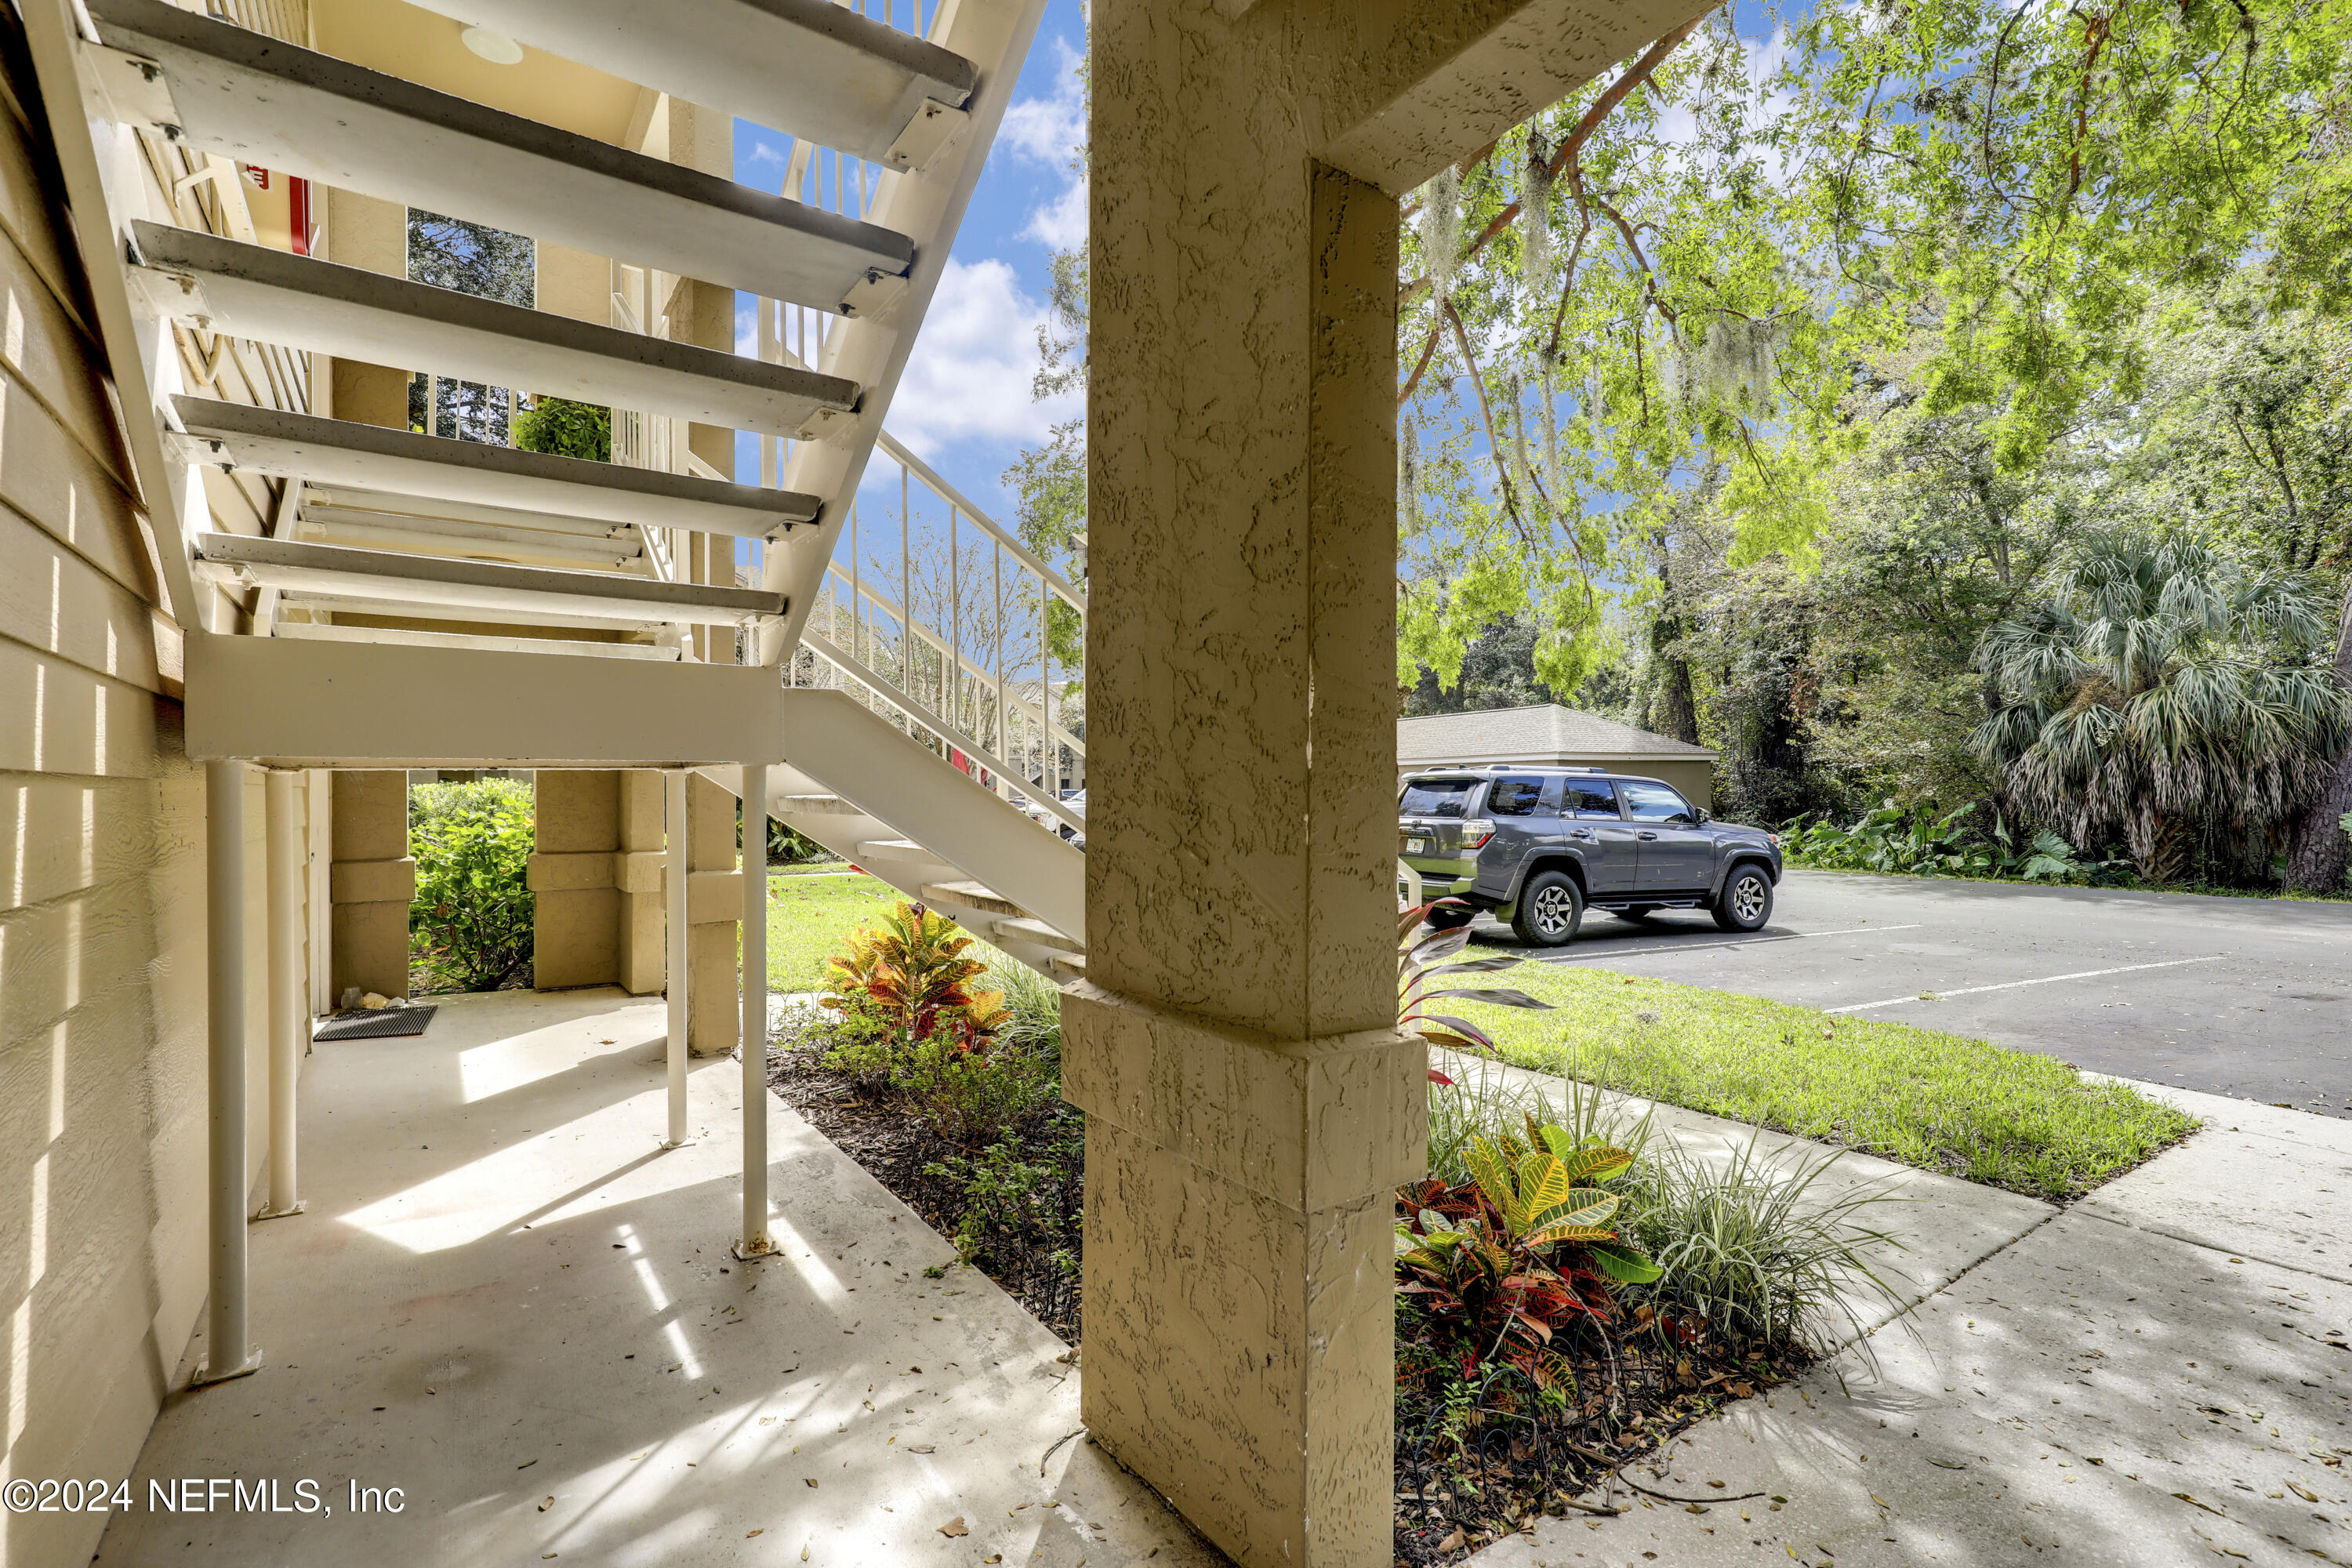
M266 1366L169 1396L96 1561L1221 1561L1077 1436L1063 1345L774 1095L786 1248L734 1262L741 1070L694 1065L663 1152L661 1058L612 990L318 1046L310 1208L252 1229ZM289 1512L151 1507L209 1476Z

